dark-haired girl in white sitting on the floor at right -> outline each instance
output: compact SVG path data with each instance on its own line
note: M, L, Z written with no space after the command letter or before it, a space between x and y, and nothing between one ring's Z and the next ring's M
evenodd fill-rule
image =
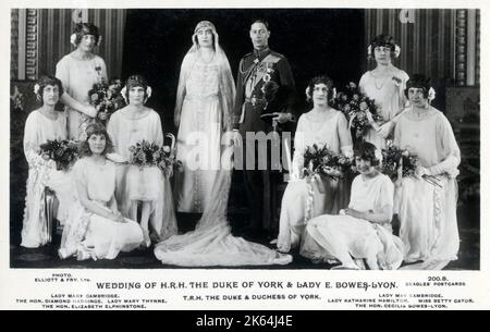
M372 144L360 143L355 156L360 174L352 183L348 208L311 219L305 242L316 245L303 245L301 254L315 261L340 260L341 269L364 269L366 259L371 270L396 270L405 249L391 230L393 183L376 169L382 157Z

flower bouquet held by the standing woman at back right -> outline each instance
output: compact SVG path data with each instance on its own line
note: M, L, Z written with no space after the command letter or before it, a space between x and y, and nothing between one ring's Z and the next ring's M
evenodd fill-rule
M353 82L346 86L344 91L336 94L333 107L345 114L348 126L354 131L356 138L366 136L371 127L366 111L372 114L375 122L383 120L377 112L375 100L362 94L358 86Z

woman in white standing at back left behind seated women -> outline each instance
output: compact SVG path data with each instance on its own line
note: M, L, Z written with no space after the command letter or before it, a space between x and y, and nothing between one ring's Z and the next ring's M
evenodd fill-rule
M106 62L94 54L101 40L97 26L78 23L70 38L75 50L57 63L56 76L64 88L61 101L66 108L69 138L79 138L85 133L87 121L97 115L97 110L89 106L88 91L95 83L107 82Z

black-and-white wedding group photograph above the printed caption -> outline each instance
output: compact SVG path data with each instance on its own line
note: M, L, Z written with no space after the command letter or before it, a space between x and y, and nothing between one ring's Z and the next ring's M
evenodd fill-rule
M11 271L485 266L481 8L9 11Z

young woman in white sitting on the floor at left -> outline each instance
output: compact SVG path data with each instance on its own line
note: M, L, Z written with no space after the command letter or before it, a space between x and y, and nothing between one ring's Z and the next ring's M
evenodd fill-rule
M101 124L89 124L82 143L83 156L73 168L77 199L63 230L59 255L62 259L76 255L87 258L113 259L119 251L139 246L139 225L118 211L114 188L115 167L106 158L112 143Z

